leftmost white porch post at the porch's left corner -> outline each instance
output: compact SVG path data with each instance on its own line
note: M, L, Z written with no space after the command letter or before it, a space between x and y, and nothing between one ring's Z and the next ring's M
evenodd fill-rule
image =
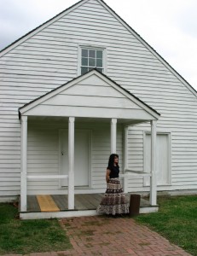
M20 212L26 212L27 116L21 116L20 133Z

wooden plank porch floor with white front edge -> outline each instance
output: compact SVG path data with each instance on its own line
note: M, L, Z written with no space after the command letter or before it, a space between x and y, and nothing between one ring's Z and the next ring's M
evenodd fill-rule
M77 194L74 197L74 209L68 209L67 195L27 195L26 212L20 212L22 219L69 218L97 215L96 208L103 194ZM126 194L130 200L130 193ZM20 210L20 209L19 209ZM140 213L157 212L158 206L151 206L141 197Z

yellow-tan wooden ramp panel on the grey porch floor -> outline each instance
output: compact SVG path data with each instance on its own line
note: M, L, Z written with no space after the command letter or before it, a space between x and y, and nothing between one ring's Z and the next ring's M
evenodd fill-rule
M55 201L50 195L37 195L37 200L41 212L60 212L56 206Z

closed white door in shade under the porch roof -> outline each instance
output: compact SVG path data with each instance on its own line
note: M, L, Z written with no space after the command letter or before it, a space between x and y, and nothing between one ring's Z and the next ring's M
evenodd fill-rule
M60 131L60 167L61 174L68 174L68 131ZM90 185L90 131L74 132L74 185ZM61 181L67 186L67 180Z

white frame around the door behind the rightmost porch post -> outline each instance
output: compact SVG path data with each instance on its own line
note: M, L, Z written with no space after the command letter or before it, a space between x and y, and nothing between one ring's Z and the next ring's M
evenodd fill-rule
M157 186L162 187L162 186L170 186L171 185L171 132L170 131L157 131L157 136L159 134L162 135L167 135L168 138L168 159L169 159L169 163L168 163L168 170L169 170L169 183L166 184L157 184ZM151 135L150 131L143 131L143 172L147 172L145 170L145 166L146 166L146 135ZM146 178L143 178L143 186L144 187L149 187L150 184L146 183Z

